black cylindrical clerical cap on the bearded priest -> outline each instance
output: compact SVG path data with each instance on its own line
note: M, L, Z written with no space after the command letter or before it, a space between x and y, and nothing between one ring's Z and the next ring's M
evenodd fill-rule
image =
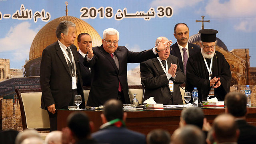
M202 29L202 30L199 30L199 32L201 34L202 42L215 42L216 41L216 34L218 33L218 30Z

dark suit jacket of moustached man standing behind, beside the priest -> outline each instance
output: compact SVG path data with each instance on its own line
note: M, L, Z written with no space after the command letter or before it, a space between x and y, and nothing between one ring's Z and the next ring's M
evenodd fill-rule
M180 54L180 48L178 46L178 43L176 42L175 44L171 45L170 48L171 48L170 54L173 55L173 56L178 57L179 64L180 64L180 69L184 73L183 60L182 60L182 57L181 57L181 54ZM189 56L192 56L192 54L195 54L196 52L198 52L200 50L201 50L200 46L198 46L197 44L191 44L190 42L188 42Z

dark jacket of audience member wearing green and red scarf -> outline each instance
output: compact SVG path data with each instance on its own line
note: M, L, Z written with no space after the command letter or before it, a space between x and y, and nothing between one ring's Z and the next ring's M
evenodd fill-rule
M146 144L146 136L124 127L110 126L94 132L92 138L107 144Z

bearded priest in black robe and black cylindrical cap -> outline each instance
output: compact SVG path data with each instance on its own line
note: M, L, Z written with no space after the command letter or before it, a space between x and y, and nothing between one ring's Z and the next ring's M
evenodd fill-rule
M224 101L229 92L231 72L226 58L216 50L217 30L203 29L201 34L201 52L188 58L186 70L186 90L192 92L196 87L198 98L218 98Z

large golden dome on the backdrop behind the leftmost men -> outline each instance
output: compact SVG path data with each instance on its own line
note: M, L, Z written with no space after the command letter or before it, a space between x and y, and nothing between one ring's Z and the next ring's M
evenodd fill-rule
M82 32L86 32L90 34L92 37L92 46L100 46L102 44L102 40L98 32L90 26L87 22L76 18L74 16L62 16L60 18L56 18L50 22L48 22L39 32L36 34L29 52L29 61L35 58L42 57L42 52L46 46L56 42L58 39L56 37L55 31L58 24L63 21L68 20L76 24L76 36L78 36ZM77 46L77 38L74 42L74 45Z

